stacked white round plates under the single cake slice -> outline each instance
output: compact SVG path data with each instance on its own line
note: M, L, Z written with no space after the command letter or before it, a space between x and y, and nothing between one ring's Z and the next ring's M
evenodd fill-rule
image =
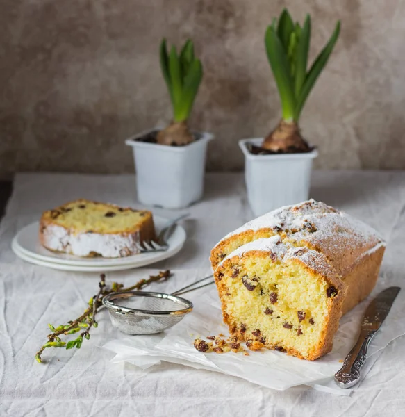
M156 231L160 231L169 220L154 215ZM150 252L125 256L124 258L81 258L69 254L51 252L45 249L38 240L39 222L29 224L17 233L13 239L12 249L17 256L25 261L51 268L75 271L102 272L109 270L125 270L149 265L170 258L181 250L185 242L185 230L177 225L167 240L169 249L163 252ZM58 267L58 268L57 268ZM67 267L70 267L69 269ZM74 269L72 269L74 268ZM91 268L91 269L89 269ZM110 269L114 268L114 269Z

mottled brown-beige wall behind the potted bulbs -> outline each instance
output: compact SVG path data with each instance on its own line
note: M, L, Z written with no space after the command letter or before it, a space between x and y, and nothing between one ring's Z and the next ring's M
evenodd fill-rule
M263 45L283 6L313 16L314 51L342 33L301 117L318 167L405 168L403 0L2 0L0 175L131 172L132 133L170 120L158 44L195 40L192 116L213 131L210 170L237 170L237 140L280 117Z

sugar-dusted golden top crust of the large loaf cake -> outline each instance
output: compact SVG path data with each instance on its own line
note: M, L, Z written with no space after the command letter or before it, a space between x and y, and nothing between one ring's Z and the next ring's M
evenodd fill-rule
M372 227L313 199L295 206L281 207L251 220L225 236L221 242L246 231L255 232L263 229L275 234L274 239L281 238L283 244L307 247L315 253L326 256L336 272L342 276L365 254L385 245ZM256 241L259 241L258 245ZM275 242L276 240L267 242L262 239L254 240L240 247L237 253L247 250L266 250L266 247L272 251ZM288 256L293 253L295 252L291 252ZM304 254L304 252L300 253ZM311 255L313 259L314 256L315 254Z

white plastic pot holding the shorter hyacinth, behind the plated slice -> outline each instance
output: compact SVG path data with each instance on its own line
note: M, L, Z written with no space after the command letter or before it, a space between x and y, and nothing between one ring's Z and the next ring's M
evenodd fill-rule
M201 138L190 145L167 146L135 141L151 129L126 140L133 149L138 200L142 204L165 208L183 208L197 202L204 190L206 147L214 138Z

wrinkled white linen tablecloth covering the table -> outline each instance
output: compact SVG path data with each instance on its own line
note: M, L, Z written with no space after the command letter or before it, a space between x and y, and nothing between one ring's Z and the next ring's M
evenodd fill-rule
M10 241L42 210L77 197L139 206L132 176L18 174L15 179L0 226L0 416L405 415L404 338L388 345L349 398L305 386L272 391L236 377L170 364L149 373L113 365L100 346L119 334L104 313L81 350L48 350L44 359L49 363L36 363L33 356L44 342L47 323L76 317L97 291L98 275L28 265L15 258ZM392 284L405 281L405 172L315 172L311 197L378 229L388 240L381 273ZM185 211L190 218L184 222L184 249L153 265L178 271L167 283L168 291L184 279L204 276L210 248L251 218L242 174L208 174L206 197ZM174 217L178 211L156 213ZM130 284L150 272L115 272L110 278Z

